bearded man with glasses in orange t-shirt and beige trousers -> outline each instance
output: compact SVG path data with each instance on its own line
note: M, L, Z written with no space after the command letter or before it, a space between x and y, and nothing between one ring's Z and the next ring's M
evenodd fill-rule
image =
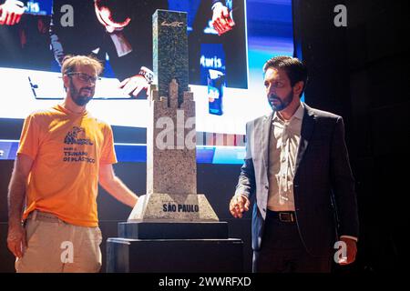
M8 193L17 272L98 272L98 182L120 202L137 203L114 174L111 127L86 110L101 71L94 58L66 57L64 102L26 118Z

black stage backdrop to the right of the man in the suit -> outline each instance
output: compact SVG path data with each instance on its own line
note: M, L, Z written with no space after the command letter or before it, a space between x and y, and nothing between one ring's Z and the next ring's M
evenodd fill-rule
M399 271L408 257L409 2L293 0L292 5L296 51L309 68L305 101L343 116L356 179L358 256L354 265L337 270ZM346 7L346 26L333 24L336 5Z

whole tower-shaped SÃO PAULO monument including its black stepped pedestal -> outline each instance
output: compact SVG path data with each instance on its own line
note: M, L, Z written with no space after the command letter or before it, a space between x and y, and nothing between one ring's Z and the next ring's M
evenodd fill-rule
M197 194L186 13L156 11L153 54L156 85L149 94L147 193L138 198L128 221L118 224L119 237L108 238L107 270L241 271L241 239L228 238L228 224Z

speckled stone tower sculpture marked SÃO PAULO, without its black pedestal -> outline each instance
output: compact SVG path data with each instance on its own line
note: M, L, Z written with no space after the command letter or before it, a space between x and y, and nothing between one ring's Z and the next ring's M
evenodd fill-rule
M195 102L188 88L187 15L153 16L154 74L147 125L147 194L128 222L219 221L197 194Z

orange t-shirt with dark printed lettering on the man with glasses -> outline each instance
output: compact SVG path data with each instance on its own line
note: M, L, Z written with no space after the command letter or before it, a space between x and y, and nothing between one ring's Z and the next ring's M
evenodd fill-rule
M72 225L98 225L98 167L117 163L108 124L56 105L26 118L17 154L34 160L23 219L37 209Z

